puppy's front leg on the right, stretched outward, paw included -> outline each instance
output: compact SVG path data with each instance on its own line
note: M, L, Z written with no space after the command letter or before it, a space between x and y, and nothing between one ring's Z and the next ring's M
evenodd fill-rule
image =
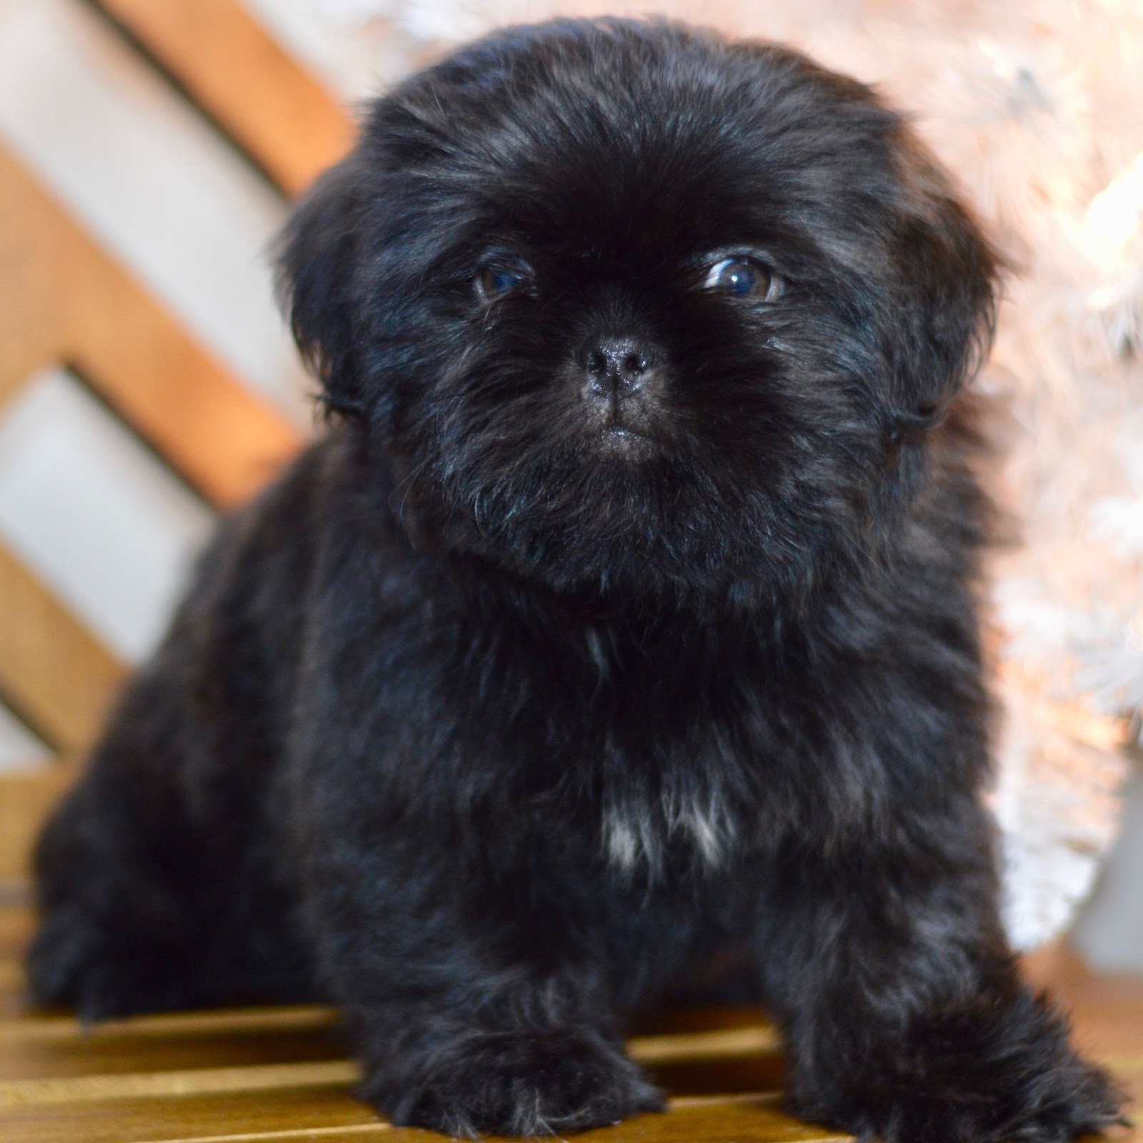
M887 1143L1064 1143L1120 1097L1020 978L983 812L893 842L791 858L761 959L792 1109Z

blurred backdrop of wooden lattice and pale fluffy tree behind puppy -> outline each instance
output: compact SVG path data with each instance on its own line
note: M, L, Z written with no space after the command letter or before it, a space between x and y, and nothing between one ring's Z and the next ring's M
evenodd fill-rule
M992 793L1021 948L1143 973L1143 6L0 0L0 877L219 511L312 429L272 298L355 107L515 19L669 16L878 85L1014 272Z

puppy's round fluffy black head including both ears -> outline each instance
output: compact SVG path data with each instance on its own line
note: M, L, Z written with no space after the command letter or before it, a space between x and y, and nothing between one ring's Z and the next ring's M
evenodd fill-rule
M629 597L790 599L890 533L993 279L868 88L617 21L503 32L378 101L282 246L326 400L419 526Z

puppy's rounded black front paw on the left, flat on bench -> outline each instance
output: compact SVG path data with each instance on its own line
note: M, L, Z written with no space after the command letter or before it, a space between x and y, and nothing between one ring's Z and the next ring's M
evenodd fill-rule
M664 1106L622 1050L590 1032L472 1032L431 1052L403 1085L378 1074L362 1094L397 1125L464 1138L555 1135Z

